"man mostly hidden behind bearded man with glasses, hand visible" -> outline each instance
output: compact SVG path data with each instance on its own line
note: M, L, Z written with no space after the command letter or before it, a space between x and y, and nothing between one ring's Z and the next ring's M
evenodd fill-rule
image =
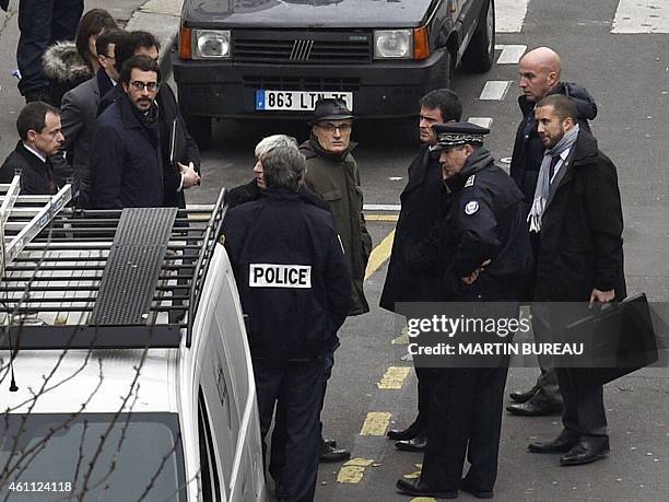
M116 68L120 71L124 63L133 56L148 56L159 60L161 45L151 33L130 32L115 48ZM102 96L97 106L98 116L117 101L122 89L111 89ZM186 208L184 191L200 182L200 150L188 133L186 122L174 92L169 85L161 85L155 96L157 125L163 166L164 207Z

